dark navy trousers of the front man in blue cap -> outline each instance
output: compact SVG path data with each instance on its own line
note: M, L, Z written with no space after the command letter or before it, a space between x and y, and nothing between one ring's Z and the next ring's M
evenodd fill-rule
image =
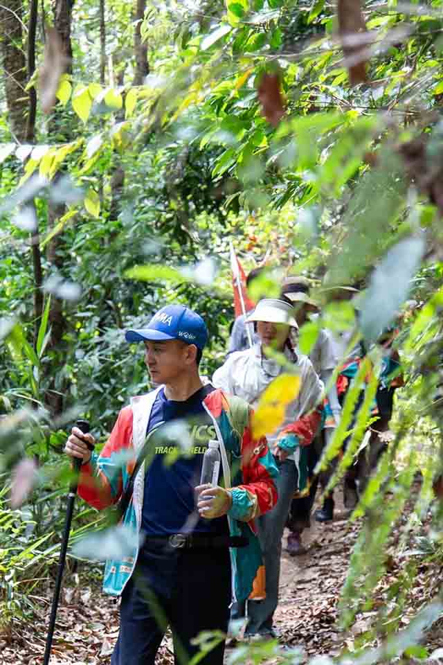
M228 630L231 598L228 548L152 547L149 540L120 605L120 634L111 665L154 665L168 626L176 665L199 652L201 632ZM224 640L200 661L222 665Z

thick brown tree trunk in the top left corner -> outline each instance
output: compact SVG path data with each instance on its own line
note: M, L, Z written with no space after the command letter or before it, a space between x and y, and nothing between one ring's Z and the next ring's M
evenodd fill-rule
M1 0L0 48L3 56L6 103L10 129L20 143L26 140L26 112L28 110L22 17L21 0Z

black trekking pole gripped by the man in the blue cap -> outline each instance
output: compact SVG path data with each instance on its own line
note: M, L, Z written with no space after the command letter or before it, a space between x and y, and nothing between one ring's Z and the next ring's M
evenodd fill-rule
M75 425L76 427L78 427L78 429L82 430L83 434L87 434L89 432L89 423L87 420L77 420L77 423L75 423ZM90 447L89 443L88 447ZM90 450L92 450L92 447L90 447ZM71 485L69 486L68 505L66 506L66 520L64 522L62 547L60 547L60 558L58 560L57 578L55 580L53 604L51 606L51 617L49 617L48 637L46 637L46 647L44 650L43 665L49 665L49 657L51 656L51 646L53 643L53 635L55 628L55 617L57 617L58 601L60 600L60 589L62 587L63 570L64 570L64 564L66 562L66 551L68 549L69 531L71 531L72 514L75 503L75 495L77 494L78 475L80 473L81 465L82 465L82 460L79 457L75 457L74 459L75 475L71 481Z

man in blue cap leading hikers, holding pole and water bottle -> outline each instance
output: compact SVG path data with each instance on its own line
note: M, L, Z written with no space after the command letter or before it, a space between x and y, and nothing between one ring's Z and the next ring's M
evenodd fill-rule
M231 598L250 594L261 564L255 519L275 505L278 470L266 440L251 435L246 402L202 384L208 332L199 314L168 305L126 339L145 345L157 388L120 411L100 456L75 427L65 450L82 458L80 496L99 509L120 502L125 526L140 536L132 556L105 568L105 592L121 596L111 665L154 665L168 624L181 664L198 652L192 641L201 632L226 632ZM210 440L219 447L219 479L199 486ZM201 662L221 665L223 655L221 638Z

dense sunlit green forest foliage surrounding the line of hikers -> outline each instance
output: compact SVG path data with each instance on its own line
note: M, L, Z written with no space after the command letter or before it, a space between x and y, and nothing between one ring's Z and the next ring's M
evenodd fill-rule
M39 70L22 91L26 100L38 87L33 139L18 137L20 118L0 92L1 621L17 610L26 566L39 577L57 549L66 429L82 414L105 437L118 408L147 387L123 330L166 302L187 303L210 328L202 372L223 359L233 240L246 267L274 269L270 292L288 270L316 283L323 314L301 330L304 351L320 325L354 330L377 373L379 332L408 297L419 305L400 317L406 387L395 439L355 513L366 518L343 589L349 626L386 573L418 472L422 490L399 547L430 510L441 538L442 1L148 1L143 17L118 0L102 6L105 32L95 4L73 6L61 78L60 46L44 54L50 34L37 24ZM31 6L20 8L28 24ZM137 29L147 45L142 78ZM51 85L57 104L44 114ZM338 299L336 287L349 284L368 287L359 323ZM366 422L362 410L350 452ZM23 457L38 481L12 511L10 471ZM344 456L337 478L350 463ZM81 512L75 528L87 520ZM401 575L413 574L405 564ZM397 619L382 622L379 637ZM408 640L386 653L403 653Z

